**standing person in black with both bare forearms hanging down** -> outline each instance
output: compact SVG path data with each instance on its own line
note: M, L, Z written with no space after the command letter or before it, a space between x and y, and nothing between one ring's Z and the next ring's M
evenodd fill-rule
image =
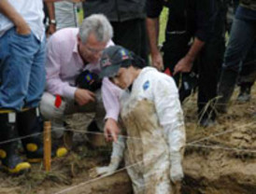
M181 88L190 90L189 73L195 60L198 64L198 118L203 127L215 120L213 99L224 52L224 5L221 0L150 0L146 4L152 65L159 70L169 68L177 84L179 73L186 73L182 77L189 82ZM169 15L162 58L157 26L164 6Z

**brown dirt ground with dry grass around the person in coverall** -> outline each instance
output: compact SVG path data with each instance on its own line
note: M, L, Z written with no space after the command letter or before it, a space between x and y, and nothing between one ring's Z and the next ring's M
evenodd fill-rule
M200 128L196 123L196 98L183 104L187 146L183 194L256 193L256 86L251 101L238 104L233 96L229 112L218 124ZM88 171L107 165L111 146L79 145L64 159L53 159L50 173L34 164L31 173L10 177L0 173L0 194L129 194L131 181L125 171L92 179Z

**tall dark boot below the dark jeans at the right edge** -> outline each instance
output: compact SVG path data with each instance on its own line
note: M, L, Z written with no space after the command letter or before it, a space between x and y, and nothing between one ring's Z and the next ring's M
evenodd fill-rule
M232 70L224 69L221 72L220 83L218 89L218 96L216 109L219 113L226 113L227 104L235 90L235 84L238 73Z

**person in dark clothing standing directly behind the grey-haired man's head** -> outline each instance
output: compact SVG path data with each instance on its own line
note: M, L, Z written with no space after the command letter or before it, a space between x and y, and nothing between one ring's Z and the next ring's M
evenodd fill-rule
M83 3L84 17L106 15L113 26L114 43L148 62L145 4L146 0L87 0Z

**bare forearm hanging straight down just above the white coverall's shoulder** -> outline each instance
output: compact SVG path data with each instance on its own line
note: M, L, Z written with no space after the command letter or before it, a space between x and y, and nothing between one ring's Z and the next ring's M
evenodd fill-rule
M152 65L158 70L164 69L162 55L158 49L159 18L147 18L147 30L149 35L149 48L151 52Z

